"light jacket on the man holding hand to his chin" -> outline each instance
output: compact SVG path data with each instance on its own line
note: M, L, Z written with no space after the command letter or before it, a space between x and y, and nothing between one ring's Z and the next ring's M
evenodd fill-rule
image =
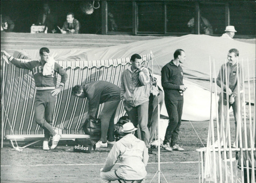
M132 72L132 65L124 70L121 76L121 100L131 106L138 106L147 102L150 95L150 77L147 68Z

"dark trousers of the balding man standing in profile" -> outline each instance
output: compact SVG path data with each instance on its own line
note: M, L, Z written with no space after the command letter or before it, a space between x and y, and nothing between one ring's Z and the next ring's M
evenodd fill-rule
M183 108L183 100L170 100L164 98L165 107L169 116L169 124L166 128L164 136L164 144L167 142L172 146L178 142L179 128L181 125L181 116Z

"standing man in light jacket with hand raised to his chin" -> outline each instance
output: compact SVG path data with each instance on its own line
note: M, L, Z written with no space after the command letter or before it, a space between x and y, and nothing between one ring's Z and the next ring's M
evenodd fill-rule
M139 124L140 135L146 147L149 145L148 131L148 101L150 95L149 71L141 65L141 57L133 54L131 65L124 70L121 76L121 100L124 101L124 108L134 126ZM138 134L135 133L138 137Z

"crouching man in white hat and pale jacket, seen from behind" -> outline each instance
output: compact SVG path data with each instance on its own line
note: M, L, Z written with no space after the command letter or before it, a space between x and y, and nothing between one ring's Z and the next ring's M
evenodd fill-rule
M108 154L103 168L100 169L100 182L110 183L118 179L141 180L147 175L146 165L148 163L148 148L144 141L134 136L137 130L131 122L123 125L126 135L117 141ZM116 170L111 170L120 160Z

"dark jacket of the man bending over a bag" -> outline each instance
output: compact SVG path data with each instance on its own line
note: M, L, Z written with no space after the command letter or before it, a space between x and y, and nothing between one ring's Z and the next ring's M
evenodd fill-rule
M83 87L85 97L89 100L89 116L95 118L99 104L120 100L120 88L107 81L92 81Z

